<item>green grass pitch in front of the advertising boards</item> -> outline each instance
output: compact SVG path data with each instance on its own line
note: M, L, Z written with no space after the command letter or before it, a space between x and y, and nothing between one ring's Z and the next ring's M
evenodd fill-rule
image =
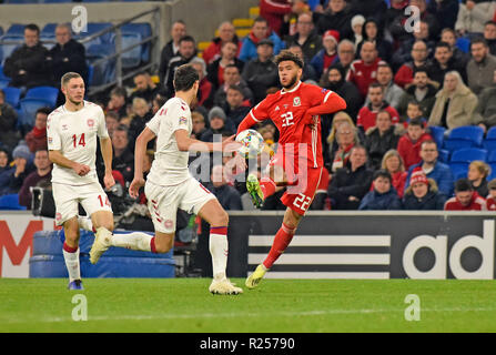
M209 278L83 284L0 278L0 332L496 332L494 281L264 280L237 296L211 295ZM77 322L79 294L88 320ZM419 321L405 320L408 294L418 296Z

